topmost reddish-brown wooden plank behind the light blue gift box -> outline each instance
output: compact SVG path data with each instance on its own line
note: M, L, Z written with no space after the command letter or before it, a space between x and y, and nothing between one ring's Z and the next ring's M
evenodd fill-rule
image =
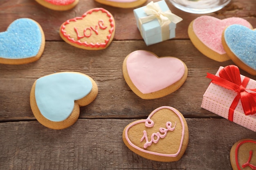
M150 2L148 0L145 4ZM153 0L158 1L158 0ZM173 7L173 5L166 0L168 7L173 13L183 18L183 21L177 24L176 39L188 39L187 29L189 23L200 16L199 14L191 14L181 11ZM144 4L144 5L145 5ZM143 5L143 6L144 6ZM68 19L81 16L89 9L103 7L110 11L115 18L116 33L115 40L141 40L141 35L137 29L133 9L121 9L99 4L94 0L80 0L74 9L69 11L54 11L47 9L32 0L2 0L0 2L0 32L5 31L9 24L18 18L31 18L36 20L45 32L46 40L62 40L59 36L58 30L63 22ZM224 9L211 15L216 18L224 19L229 17L245 18L256 27L256 1L254 0L232 0L231 3Z

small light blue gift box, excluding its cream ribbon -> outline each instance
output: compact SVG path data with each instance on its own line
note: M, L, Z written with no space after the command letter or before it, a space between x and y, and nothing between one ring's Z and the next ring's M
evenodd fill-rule
M164 0L161 0L157 3L163 12L170 10ZM138 27L139 31L141 32L141 36L144 39L147 46L156 44L158 42L162 42L164 40L175 38L176 24L174 22L171 22L169 24L169 30L170 30L169 35L170 36L164 38L164 40L162 38L161 26L160 26L157 18L151 20L150 22L146 22L140 26L139 18L148 16L146 14L146 12L144 11L144 8L146 8L146 6L134 9L133 12L134 12L134 15L136 18L137 27Z

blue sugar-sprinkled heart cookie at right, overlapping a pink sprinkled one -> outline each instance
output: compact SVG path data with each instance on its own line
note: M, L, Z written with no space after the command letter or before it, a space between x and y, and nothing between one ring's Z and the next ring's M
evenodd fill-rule
M256 29L238 24L228 26L223 31L222 44L238 67L256 75Z

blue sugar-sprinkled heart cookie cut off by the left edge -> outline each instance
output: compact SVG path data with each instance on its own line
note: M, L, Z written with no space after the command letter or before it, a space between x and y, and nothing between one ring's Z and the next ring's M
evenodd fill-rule
M29 18L13 21L0 33L0 63L27 64L38 60L45 48L41 26Z

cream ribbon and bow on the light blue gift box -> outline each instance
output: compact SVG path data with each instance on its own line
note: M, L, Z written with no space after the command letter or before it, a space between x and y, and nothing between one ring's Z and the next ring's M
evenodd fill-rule
M162 9L159 7L159 4L157 4L157 2L149 2L144 8L144 11L148 16L139 18L139 30L141 32L141 35L141 25L157 18L161 26L162 40L168 40L170 37L169 24L171 22L177 24L178 22L182 21L182 18L175 15L170 10L163 12Z

